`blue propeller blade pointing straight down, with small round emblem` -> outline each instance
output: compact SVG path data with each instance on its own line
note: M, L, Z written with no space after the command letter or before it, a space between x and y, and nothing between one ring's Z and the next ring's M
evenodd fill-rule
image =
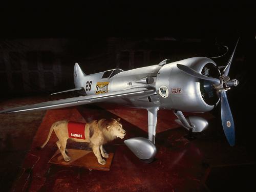
M226 138L231 146L234 146L234 121L230 111L226 92L221 92L221 121Z

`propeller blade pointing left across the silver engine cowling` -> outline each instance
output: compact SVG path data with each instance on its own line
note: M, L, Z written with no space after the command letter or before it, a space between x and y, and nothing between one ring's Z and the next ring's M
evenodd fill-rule
M199 79L204 79L204 80L208 80L213 84L220 84L220 79L214 78L214 77L207 77L201 73L198 73L197 71L195 71L194 69L191 69L187 66L184 65L180 65L177 64L177 68L179 68L181 71L185 72L188 75L191 75L193 77L197 77Z

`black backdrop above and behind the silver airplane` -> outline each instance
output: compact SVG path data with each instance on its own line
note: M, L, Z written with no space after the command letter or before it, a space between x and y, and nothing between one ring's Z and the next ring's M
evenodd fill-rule
M1 99L72 89L73 67L96 73L218 56L226 65L238 37L228 92L238 145L254 150L255 5L175 1L19 3L0 8ZM220 122L220 106L212 113Z

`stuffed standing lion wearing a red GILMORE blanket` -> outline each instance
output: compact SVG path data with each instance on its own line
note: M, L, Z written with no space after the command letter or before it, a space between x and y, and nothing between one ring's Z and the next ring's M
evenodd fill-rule
M57 121L52 124L47 140L40 148L43 148L47 144L52 132L54 131L59 139L56 144L65 161L71 160L65 151L67 140L72 139L77 142L89 143L89 146L92 147L93 153L97 157L99 164L104 165L106 161L102 159L102 157L108 158L109 154L104 153L102 145L118 137L123 139L125 136L122 124L118 121L120 121L120 118L117 120L93 120L90 123L77 123L68 120Z

